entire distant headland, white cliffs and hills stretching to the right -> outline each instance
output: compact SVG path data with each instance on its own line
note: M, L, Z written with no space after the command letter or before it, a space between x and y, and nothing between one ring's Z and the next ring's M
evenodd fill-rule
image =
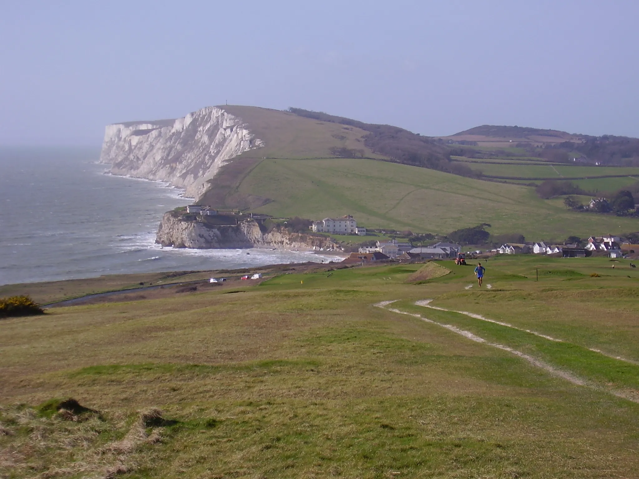
M114 174L169 181L219 209L350 213L366 227L444 234L481 223L546 239L636 230L635 218L577 213L531 187L554 179L589 192L631 187L639 140L626 137L484 125L433 138L311 110L222 105L109 125L101 160Z

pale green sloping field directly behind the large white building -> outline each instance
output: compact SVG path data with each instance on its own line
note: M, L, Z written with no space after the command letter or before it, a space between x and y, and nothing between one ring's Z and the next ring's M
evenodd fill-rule
M529 239L636 231L633 218L574 213L532 188L366 159L267 159L238 185L273 199L255 211L276 217L351 214L364 227L448 233L480 223Z

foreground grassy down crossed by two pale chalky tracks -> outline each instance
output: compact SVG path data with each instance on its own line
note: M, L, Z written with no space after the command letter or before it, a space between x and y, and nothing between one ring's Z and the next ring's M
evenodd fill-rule
M638 270L438 264L4 319L2 476L638 476Z

